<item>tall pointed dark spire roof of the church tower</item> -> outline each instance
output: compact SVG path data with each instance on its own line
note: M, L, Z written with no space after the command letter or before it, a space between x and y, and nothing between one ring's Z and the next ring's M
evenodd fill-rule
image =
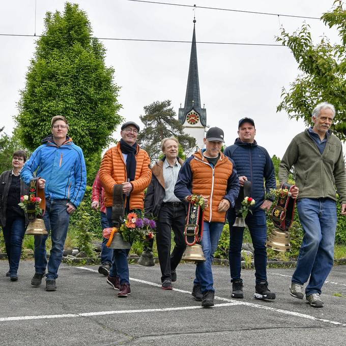
M184 108L179 108L179 121L182 124L184 124L186 114L190 112L192 109L194 109L199 114L201 124L204 127L206 127L207 126L206 109L201 108L201 105L200 105L195 22L196 20L194 19L191 54L190 54L190 67L189 67L189 75L187 78L185 104L184 104Z

